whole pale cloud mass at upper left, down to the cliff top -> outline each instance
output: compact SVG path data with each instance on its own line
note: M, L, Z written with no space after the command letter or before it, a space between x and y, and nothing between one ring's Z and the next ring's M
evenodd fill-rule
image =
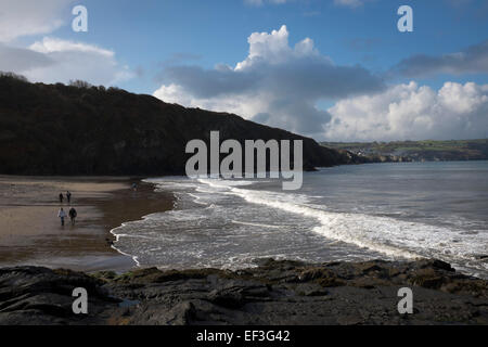
M39 36L69 24L74 0L0 0L0 70L26 76L31 81L87 80L113 85L132 76L115 53L93 44L43 38L20 47L17 38Z

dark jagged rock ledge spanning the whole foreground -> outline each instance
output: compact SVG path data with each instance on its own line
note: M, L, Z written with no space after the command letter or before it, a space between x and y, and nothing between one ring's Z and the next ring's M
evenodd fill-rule
M0 324L488 324L488 282L439 260L256 260L258 267L117 275L0 269ZM413 313L399 314L400 287ZM88 314L74 314L85 287Z

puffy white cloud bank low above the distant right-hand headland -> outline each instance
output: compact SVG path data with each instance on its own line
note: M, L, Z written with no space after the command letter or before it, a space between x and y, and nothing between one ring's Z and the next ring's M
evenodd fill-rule
M337 102L325 126L330 141L485 138L488 85L446 82L438 91L415 82Z

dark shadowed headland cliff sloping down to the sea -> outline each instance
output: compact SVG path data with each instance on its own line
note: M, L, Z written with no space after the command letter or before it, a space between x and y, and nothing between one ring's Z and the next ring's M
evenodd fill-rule
M360 162L311 139L119 89L0 77L0 174L182 175L188 141L304 140L304 167Z

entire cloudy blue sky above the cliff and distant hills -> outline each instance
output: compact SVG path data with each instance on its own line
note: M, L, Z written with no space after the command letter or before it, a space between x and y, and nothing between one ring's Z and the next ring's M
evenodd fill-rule
M398 30L401 5L413 31ZM0 70L319 141L487 138L488 1L0 0Z

